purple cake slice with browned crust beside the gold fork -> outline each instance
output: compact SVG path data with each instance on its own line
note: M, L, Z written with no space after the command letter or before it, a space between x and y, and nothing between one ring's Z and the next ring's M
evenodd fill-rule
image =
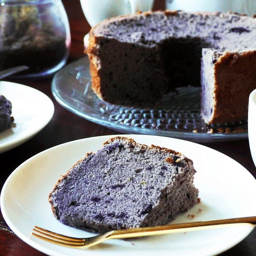
M49 195L54 216L91 232L164 225L198 199L193 162L125 137L70 168Z

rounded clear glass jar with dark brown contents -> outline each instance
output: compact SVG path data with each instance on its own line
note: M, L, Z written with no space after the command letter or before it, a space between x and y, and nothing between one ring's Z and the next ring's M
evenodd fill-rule
M61 0L0 0L0 70L27 65L19 77L40 77L63 67L70 29Z

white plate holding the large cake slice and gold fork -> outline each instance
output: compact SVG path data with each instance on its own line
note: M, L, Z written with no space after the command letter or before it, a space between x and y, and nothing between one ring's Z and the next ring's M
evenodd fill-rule
M195 186L201 203L178 216L173 223L207 221L256 215L256 180L236 161L211 148L173 138L125 135L145 144L155 144L183 152L193 159ZM140 254L203 256L231 248L246 237L252 225L194 231L140 239L109 240L91 249L74 249L30 237L34 225L68 236L87 237L91 233L57 221L48 195L61 175L89 151L101 148L111 136L71 141L47 149L20 165L7 179L0 198L2 214L13 232L23 241L48 255L113 256ZM191 216L194 216L193 218Z

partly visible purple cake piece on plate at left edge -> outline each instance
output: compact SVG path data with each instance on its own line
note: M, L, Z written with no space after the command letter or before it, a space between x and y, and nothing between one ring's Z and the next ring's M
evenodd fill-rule
M5 96L0 95L0 132L3 132L11 127L13 122L12 103Z

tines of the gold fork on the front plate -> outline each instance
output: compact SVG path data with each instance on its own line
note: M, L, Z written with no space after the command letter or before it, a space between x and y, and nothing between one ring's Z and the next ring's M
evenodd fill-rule
M84 241L85 241L84 238L74 238L71 236L60 235L52 231L49 231L47 229L42 229L37 226L34 226L31 235L39 237L48 242L61 244L65 246L71 246L71 247L75 247L75 246L80 247L84 245Z

